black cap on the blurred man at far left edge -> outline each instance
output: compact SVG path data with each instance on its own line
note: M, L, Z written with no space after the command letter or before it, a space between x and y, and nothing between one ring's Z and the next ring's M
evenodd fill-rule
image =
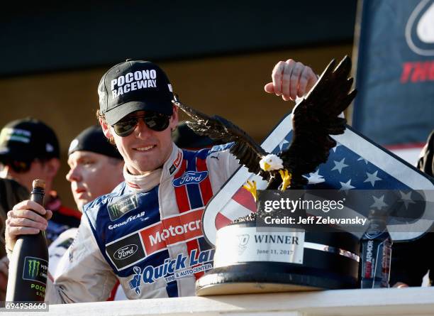
M0 161L60 158L59 141L45 123L33 118L6 124L0 132Z

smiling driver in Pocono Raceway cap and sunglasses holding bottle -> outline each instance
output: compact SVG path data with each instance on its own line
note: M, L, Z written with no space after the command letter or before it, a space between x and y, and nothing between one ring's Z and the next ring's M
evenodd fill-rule
M316 80L310 67L287 60L274 67L265 91L294 100ZM99 121L125 161L126 181L84 205L86 219L69 248L69 263L48 283L45 298L51 303L106 300L116 279L130 299L194 295L196 278L213 261L201 216L238 168L229 153L232 145L182 151L172 142L178 122L172 85L152 62L115 65L102 77L98 93ZM16 205L13 215L26 209L50 216L32 201ZM18 222L8 219L9 249L18 231L35 234L46 227L42 216L27 227Z

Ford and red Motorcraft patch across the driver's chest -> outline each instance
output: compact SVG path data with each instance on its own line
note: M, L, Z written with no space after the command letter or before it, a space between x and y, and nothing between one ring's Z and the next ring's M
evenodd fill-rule
M167 249L167 246L198 239L204 236L201 224L203 213L204 209L199 208L166 217L161 222L109 242L106 244L106 254L117 270L121 271L143 261L145 257ZM137 245L137 251L119 260L118 251L125 249L132 252L132 248L128 247L130 245Z

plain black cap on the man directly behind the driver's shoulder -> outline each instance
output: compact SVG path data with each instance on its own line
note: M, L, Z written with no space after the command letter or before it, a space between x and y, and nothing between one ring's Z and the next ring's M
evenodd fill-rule
M90 126L74 138L69 145L68 156L75 151L91 151L104 156L123 159L115 146L104 136L101 126Z

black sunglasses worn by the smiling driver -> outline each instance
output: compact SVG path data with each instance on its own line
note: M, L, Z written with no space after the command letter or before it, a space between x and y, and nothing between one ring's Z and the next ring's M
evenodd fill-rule
M125 119L113 124L112 127L118 136L126 137L133 133L139 119L143 119L145 125L152 131L164 131L170 122L169 115L148 111L143 115L127 116Z

